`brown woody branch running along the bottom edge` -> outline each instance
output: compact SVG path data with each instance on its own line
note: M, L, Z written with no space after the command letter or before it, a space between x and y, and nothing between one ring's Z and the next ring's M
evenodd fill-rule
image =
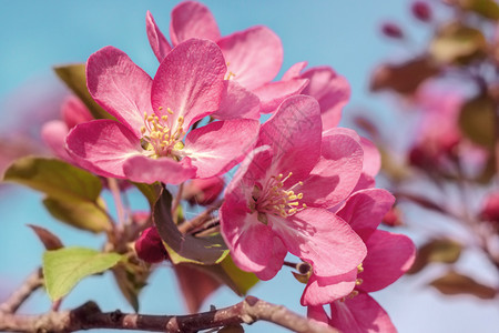
M303 317L282 305L253 296L233 306L192 315L141 315L101 312L94 302L61 312L41 315L16 315L0 312L0 331L65 333L79 330L115 329L152 332L196 332L234 324L267 321L295 332L338 333L337 330Z

